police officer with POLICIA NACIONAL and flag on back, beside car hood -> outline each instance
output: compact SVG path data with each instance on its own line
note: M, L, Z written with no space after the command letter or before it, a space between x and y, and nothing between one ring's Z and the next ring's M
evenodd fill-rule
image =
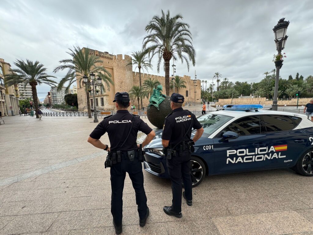
M182 108L184 97L173 93L171 96L171 109L165 118L162 145L167 155L167 170L172 181L172 206L164 206L163 211L177 218L182 217L182 180L185 191L183 196L188 206L192 206L192 182L190 176L191 153L194 142L203 134L203 128L196 116ZM196 134L191 140L191 130L196 129Z

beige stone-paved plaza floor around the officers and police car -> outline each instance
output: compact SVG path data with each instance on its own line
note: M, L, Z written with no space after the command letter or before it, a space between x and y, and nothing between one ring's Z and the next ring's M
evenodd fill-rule
M85 117L5 117L0 126L0 235L115 234L106 152ZM146 118L144 120L151 126ZM142 134L141 134L142 139ZM108 144L105 134L101 141ZM313 235L313 177L268 170L206 177L181 219L163 212L171 182L144 171L150 216L139 226L126 176L122 234Z

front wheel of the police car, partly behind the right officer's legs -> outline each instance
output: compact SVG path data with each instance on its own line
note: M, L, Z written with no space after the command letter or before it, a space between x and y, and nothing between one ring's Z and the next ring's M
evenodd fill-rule
M206 175L206 168L203 161L196 156L191 156L190 161L192 162L190 169L192 187L196 187L203 181ZM184 186L183 182L182 186Z

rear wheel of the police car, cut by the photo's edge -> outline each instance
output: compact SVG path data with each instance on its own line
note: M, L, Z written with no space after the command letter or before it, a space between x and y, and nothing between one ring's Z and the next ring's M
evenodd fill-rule
M302 154L292 169L300 175L313 176L313 149Z

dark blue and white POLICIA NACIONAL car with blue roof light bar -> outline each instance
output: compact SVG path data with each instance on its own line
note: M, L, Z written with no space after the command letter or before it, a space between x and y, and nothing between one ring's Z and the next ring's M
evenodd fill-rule
M197 119L204 129L192 153L191 178L292 168L313 176L313 123L303 114L263 110L261 105L224 105ZM196 130L192 131L194 135ZM162 130L145 146L144 169L168 178Z

